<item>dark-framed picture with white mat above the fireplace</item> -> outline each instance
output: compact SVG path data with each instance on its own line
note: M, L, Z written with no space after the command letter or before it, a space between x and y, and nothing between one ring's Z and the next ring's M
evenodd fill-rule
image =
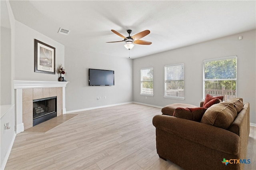
M35 39L35 72L55 74L55 48Z

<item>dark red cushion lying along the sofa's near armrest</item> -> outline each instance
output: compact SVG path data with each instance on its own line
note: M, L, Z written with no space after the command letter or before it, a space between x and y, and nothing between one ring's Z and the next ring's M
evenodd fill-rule
M206 108L196 107L196 108L182 108L178 107L175 109L173 116L182 119L188 119L190 121L200 122Z

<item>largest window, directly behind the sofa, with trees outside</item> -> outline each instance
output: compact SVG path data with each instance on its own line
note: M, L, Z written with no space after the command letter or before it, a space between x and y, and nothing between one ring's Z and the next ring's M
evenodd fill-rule
M237 56L203 61L203 98L206 94L224 96L224 101L236 97Z

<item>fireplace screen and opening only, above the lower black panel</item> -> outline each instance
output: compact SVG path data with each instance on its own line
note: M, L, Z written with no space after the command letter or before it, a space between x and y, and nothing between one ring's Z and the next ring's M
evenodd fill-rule
M33 119L56 112L57 97L33 100Z

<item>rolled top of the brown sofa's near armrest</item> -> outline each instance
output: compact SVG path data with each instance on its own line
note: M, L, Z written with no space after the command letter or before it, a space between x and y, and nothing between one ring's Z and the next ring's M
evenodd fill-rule
M167 115L154 116L153 125L214 150L236 155L240 152L239 136L222 128Z

